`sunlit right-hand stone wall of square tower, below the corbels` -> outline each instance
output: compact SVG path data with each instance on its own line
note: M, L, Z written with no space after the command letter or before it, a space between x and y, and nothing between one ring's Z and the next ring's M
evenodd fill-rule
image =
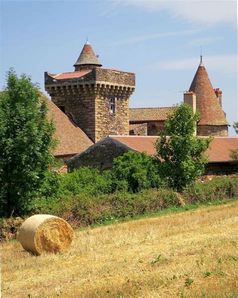
M108 134L129 135L129 98L116 97L115 113L110 114L110 97L98 95L95 99L95 141Z

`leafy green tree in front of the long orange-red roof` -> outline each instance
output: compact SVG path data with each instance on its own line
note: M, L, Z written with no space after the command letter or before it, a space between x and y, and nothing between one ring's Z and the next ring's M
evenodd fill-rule
M204 173L208 157L204 155L212 138L195 135L199 113L181 104L165 121L165 131L159 132L156 160L161 177L169 187L182 191Z

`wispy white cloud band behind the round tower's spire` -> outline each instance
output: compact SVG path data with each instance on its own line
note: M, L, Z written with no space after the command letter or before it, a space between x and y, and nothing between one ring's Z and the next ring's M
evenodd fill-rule
M205 67L209 70L219 70L221 72L236 74L237 55L213 55L203 58ZM187 58L181 60L170 60L152 65L151 68L164 69L164 70L186 70L194 69L198 66L199 59Z

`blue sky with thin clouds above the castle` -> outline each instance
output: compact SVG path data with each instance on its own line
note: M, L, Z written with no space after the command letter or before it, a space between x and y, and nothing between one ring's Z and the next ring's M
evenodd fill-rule
M44 71L74 71L86 38L103 67L136 73L130 107L183 101L200 62L238 121L236 1L1 1L1 72L14 67L44 90ZM232 126L229 135L234 136Z

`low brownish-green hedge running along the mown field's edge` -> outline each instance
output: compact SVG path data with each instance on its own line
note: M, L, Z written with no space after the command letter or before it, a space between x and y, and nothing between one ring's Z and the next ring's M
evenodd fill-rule
M75 171L75 176L71 176L73 173L57 174L56 176L52 174L53 179L60 177L60 180L57 181L58 186L56 185L58 193L52 189L51 196L40 198L39 213L50 213L63 217L73 227L79 227L156 213L166 208L181 206L176 192L171 189L143 189L137 193L116 190L108 195L108 188L103 191L103 187L95 186L98 183L97 178L92 183L94 184L92 187L95 187L94 191L89 188L90 193L85 193L83 189L80 190L80 188L76 189L74 187L75 181L73 180L84 180L83 177L87 170L84 169L81 173L81 169L78 171ZM93 173L94 169L91 169L91 171ZM107 174L110 175L110 172L107 172ZM70 178L67 178L68 180L65 182L63 179L66 179L65 176L67 175ZM66 183L73 186L66 186ZM84 182L80 183L83 184ZM99 183L99 185L103 186L104 182ZM224 201L238 197L238 178L216 178L204 183L196 183L189 190L182 192L181 196L187 204ZM189 210L189 206L186 205L184 209Z

